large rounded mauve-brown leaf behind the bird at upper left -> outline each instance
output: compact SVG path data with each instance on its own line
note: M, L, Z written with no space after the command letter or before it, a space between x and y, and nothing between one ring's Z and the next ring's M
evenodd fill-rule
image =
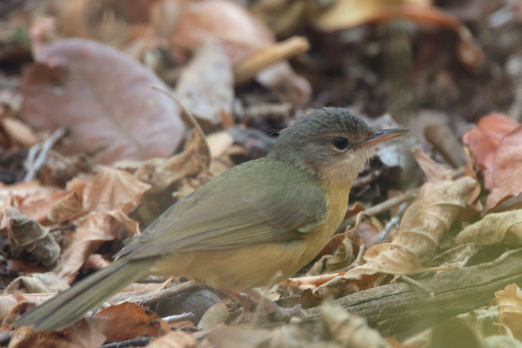
M132 58L96 42L44 45L23 82L23 114L34 126L70 129L64 153L97 152L98 163L170 155L183 137L168 87Z

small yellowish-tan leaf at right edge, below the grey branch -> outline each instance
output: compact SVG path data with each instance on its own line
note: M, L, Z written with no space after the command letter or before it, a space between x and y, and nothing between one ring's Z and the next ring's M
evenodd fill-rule
M495 292L495 302L499 306L499 320L507 325L513 335L522 339L522 290L517 284L507 285Z

